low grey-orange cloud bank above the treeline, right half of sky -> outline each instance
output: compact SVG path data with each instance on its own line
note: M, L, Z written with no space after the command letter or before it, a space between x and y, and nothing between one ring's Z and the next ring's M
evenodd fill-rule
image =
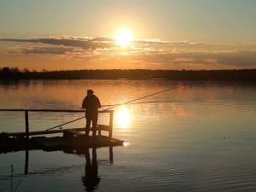
M130 55L130 59L166 68L256 68L256 51L154 52Z

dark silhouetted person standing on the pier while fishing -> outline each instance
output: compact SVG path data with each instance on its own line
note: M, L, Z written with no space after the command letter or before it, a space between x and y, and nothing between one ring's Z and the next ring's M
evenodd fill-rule
M95 137L98 121L98 108L101 108L101 102L93 93L93 90L87 90L87 96L84 97L82 108L85 108L86 117L85 136L89 136L90 122L92 121L92 136Z

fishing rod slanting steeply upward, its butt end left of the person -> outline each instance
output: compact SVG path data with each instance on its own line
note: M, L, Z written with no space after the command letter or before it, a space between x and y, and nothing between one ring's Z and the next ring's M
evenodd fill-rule
M147 98L147 97L149 97L149 96L155 96L155 95L158 95L158 94L160 94L160 93L164 93L164 92L166 92L166 91L173 90L173 89L175 89L175 88L174 88L174 87L172 87L172 88L167 89L167 90L161 90L161 91L159 91L159 92L156 92L156 93L150 94L150 95L148 95L148 96L142 96L142 97L139 97L139 98L137 98L137 99L133 99L133 100L131 100L131 101L129 101L129 102L124 102L124 103L122 103L122 104L113 105L113 106L112 106L112 107L110 107L110 108L106 108L106 109L104 109L102 112L104 112L104 111L108 111L108 110L110 110L110 109L112 109L112 108L116 108L116 107L118 107L118 106L120 106L120 105L127 105L127 104L130 104L131 102L136 102L136 101L138 101L138 100L141 100L141 99ZM103 107L103 106L102 106L102 107ZM60 128L61 128L61 126L62 126L62 125L71 124L71 123L73 123L73 122L75 122L75 121L78 121L78 120L80 120L80 119L84 119L84 118L85 118L85 115L84 115L83 117L80 117L80 118L78 118L78 119L73 119L73 120L68 121L68 122L66 122L66 123L63 123L63 124L61 124L61 125L55 125L55 126L53 126L53 127L50 127L50 128L49 128L49 129L47 129L46 131L50 131L50 130L53 130L53 129L58 128L58 127L60 127Z

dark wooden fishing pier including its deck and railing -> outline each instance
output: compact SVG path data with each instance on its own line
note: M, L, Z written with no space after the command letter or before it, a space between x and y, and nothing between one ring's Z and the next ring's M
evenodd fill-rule
M25 131L2 132L0 133L0 154L20 150L45 151L83 151L84 148L101 148L123 146L124 141L113 138L113 110L99 111L99 113L109 113L108 125L97 125L96 137L85 137L85 128L63 129L56 126L44 131L30 131L29 113L83 113L84 110L55 110L55 109L0 109L0 112L20 112L24 113ZM85 123L84 123L85 124ZM65 125L65 124L64 124ZM56 129L59 128L59 129ZM61 129L60 129L61 128ZM90 128L92 131L92 128ZM102 135L102 131L107 131L108 135ZM46 137L51 134L62 134L61 136Z

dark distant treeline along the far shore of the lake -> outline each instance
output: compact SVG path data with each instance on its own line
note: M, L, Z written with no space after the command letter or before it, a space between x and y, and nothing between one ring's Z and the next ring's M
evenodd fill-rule
M256 81L256 69L242 70L67 70L29 71L17 67L0 68L0 79L170 79Z

